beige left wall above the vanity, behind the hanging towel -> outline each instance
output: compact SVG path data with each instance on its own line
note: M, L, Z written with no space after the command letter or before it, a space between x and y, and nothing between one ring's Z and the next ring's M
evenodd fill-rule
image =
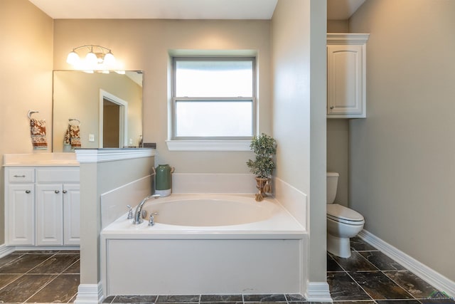
M53 19L28 0L0 1L0 161L31 153L28 110L46 120L52 139ZM0 243L4 243L4 170L0 169Z

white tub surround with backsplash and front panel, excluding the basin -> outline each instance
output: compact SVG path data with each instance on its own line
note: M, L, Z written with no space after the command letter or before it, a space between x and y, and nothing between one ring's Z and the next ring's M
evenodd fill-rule
M262 203L278 206L279 212L275 216L250 224L217 227L161 224L159 216L156 216L156 224L153 227L147 226L147 221L140 225L132 225L131 221L127 220L125 202L119 201L118 207L114 207L114 201L119 196L112 192L110 194L112 199L105 199L103 195L101 258L104 277L100 283L103 293L105 296L150 294L151 279L141 277L146 276L146 272L143 271L144 265L150 263L153 263L150 267L154 269L154 273L164 275L157 276L156 280L167 276L181 278L172 284L154 282L152 285L157 288L154 292L161 294L306 293L307 196L281 179L274 179L273 185L274 193L279 199L268 197ZM202 197L213 199L220 196L236 196L260 205L262 203L255 201L256 190L253 174L174 173L171 196L149 201L144 209L150 213L154 211L155 203ZM135 207L139 201L141 198L136 199L132 206ZM111 212L113 208L117 208L115 221L114 213ZM270 249L275 247L277 249ZM122 258L125 252L129 252L128 255L131 256L131 248L136 248L134 257L129 259L134 263L117 263L116 259ZM144 252L147 254L144 255ZM167 258L169 255L173 258ZM109 261L105 259L106 256L109 256ZM282 261L282 256L289 258ZM176 261L186 262L181 268L174 266ZM195 269L188 270L190 267L188 265L194 265L191 267ZM123 273L126 270L124 267L129 269L129 273L137 273L141 279L131 283L122 281L122 276L112 275ZM245 271L247 268L249 271ZM276 273L277 269L279 273ZM205 280L204 283L188 284L187 276L192 272L193 275L197 273L200 280ZM220 280L225 281L215 282L213 278L218 277L215 273L224 273ZM242 281L232 283L237 280L238 273L250 274ZM274 278L262 280L271 277ZM230 278L236 280L229 281ZM172 286L172 290L167 290L168 286ZM200 286L204 286L203 289ZM225 289L220 290L220 286L225 286Z

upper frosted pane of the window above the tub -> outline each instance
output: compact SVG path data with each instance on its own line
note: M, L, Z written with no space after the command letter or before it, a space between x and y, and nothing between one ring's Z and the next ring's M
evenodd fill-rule
M252 97L252 61L176 61L176 97Z

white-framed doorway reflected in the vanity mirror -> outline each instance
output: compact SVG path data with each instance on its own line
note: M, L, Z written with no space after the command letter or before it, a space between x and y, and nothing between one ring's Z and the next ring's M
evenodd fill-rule
M100 90L100 148L126 147L128 102Z

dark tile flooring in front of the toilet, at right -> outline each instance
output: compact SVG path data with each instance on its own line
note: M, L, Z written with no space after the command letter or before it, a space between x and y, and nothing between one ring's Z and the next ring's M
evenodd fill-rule
M327 254L327 282L334 302L455 304L441 291L355 237L350 258Z

